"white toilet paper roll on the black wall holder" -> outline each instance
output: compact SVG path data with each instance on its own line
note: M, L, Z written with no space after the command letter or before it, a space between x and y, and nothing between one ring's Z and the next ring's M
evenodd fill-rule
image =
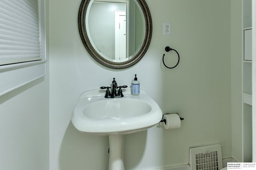
M180 116L176 113L166 114L163 119L166 119L166 124L164 123L165 129L178 129L181 126Z

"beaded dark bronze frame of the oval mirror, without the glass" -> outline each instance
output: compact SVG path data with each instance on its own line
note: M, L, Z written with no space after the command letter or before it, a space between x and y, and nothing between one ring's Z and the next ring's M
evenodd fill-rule
M90 39L88 38L87 35L87 30L86 30L86 11L88 9L88 5L91 0L82 0L78 12L78 29L80 33L81 40L84 44L84 47L90 53L90 55L100 64L109 67L109 68L114 68L114 69L122 69L122 68L127 68L130 67L134 64L136 64L142 57L145 55L152 36L152 20L151 20L151 15L150 11L148 8L148 5L146 4L145 0L136 0L136 2L139 4L142 14L144 17L145 21L145 34L144 34L144 41L142 43L142 46L140 47L138 53L132 57L132 59L129 59L128 61L124 61L121 63L113 62L113 61L108 61L104 57L102 57L92 46L92 43L90 42Z

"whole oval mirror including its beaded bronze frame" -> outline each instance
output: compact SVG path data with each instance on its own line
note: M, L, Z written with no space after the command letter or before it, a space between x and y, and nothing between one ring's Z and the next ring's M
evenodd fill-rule
M152 20L145 0L82 0L78 29L84 47L98 63L127 68L146 53Z

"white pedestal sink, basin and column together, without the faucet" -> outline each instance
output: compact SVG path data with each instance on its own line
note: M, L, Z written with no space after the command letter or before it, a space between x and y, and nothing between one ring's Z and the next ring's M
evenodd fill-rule
M124 170L124 134L146 130L162 119L162 110L143 90L132 96L126 88L123 94L122 98L104 98L104 90L84 92L71 118L79 131L109 136L109 170Z

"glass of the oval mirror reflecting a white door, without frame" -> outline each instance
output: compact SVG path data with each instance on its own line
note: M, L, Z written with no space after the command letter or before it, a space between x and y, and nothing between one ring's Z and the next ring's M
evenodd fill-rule
M134 0L93 0L86 15L89 39L105 59L127 61L142 46L145 21Z

